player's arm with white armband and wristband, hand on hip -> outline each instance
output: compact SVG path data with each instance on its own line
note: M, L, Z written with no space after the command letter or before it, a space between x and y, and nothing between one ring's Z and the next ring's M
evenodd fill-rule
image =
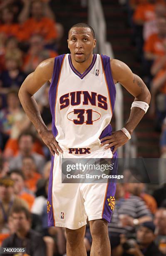
M102 146L109 144L107 148L114 146L113 154L116 149L123 146L128 140L129 136L132 134L136 126L139 124L140 120L143 118L146 110L142 107L146 106L148 108L149 102L151 100L151 95L142 81L142 79L133 74L131 69L122 61L112 59L111 60L111 72L114 82L119 82L131 95L135 97L135 106L131 109L130 116L126 122L124 128L128 131L125 135L125 131L116 131L111 136L107 136L101 139ZM136 107L139 106L139 107Z

